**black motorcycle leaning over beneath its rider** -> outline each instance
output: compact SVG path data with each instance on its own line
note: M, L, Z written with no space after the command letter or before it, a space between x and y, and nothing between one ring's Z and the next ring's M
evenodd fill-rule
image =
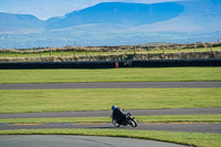
M125 120L124 122L117 122L116 119L113 118L112 116L112 123L116 126L119 127L120 125L127 126L130 125L131 127L137 127L137 122L135 120L135 117L130 117L131 113L127 113L125 115Z

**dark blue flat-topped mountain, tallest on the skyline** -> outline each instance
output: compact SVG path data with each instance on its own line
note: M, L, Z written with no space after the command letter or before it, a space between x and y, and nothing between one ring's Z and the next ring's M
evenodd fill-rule
M175 2L154 4L103 2L63 18L48 20L48 29L61 29L80 24L115 23L127 27L149 24L179 15L183 7Z

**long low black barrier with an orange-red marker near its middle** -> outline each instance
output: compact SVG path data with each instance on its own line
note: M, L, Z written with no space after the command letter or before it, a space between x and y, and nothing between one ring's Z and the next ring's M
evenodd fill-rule
M208 60L140 60L140 61L96 61L96 62L20 62L0 63L1 70L17 69L114 69L118 67L178 67L221 66L221 59Z

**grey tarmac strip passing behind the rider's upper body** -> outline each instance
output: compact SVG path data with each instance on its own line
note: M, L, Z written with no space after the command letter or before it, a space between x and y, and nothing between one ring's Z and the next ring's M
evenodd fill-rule
M221 114L221 107L126 109L134 116ZM0 118L108 117L112 111L0 114Z

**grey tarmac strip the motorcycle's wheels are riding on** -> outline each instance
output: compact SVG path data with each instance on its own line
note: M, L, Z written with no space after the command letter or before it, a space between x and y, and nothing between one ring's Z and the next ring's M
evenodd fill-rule
M7 129L41 129L41 128L88 128L88 129L136 129L166 130L188 133L221 134L221 123L213 124L139 124L137 127L120 126L112 123L46 123L46 124L0 124L0 130Z

